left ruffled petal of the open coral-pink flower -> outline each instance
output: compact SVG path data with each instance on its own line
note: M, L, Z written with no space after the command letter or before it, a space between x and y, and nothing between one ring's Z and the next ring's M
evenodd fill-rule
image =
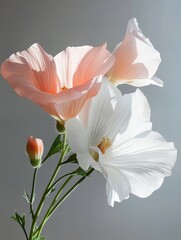
M60 89L53 57L37 43L11 55L1 65L1 73L18 95L35 102Z

